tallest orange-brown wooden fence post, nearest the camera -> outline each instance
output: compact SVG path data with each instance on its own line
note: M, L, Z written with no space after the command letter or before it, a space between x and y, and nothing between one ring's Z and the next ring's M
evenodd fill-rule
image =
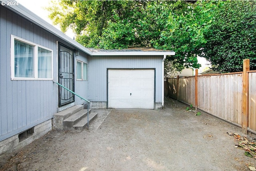
M242 77L242 132L247 134L248 127L248 74L250 70L250 60L245 59L243 64L243 77Z

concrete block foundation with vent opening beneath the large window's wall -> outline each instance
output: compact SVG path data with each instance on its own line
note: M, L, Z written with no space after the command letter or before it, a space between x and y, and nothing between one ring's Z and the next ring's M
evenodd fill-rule
M51 130L52 119L34 126L34 133L21 142L19 142L19 134L16 134L8 139L5 139L0 142L0 155L6 152L10 153L14 150L20 149L32 143L32 141L42 137L44 134L48 133L48 131Z

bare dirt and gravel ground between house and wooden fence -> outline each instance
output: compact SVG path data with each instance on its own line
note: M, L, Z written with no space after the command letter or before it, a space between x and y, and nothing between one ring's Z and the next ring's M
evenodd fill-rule
M245 136L240 128L186 107L166 98L164 109L98 110L89 130L50 131L0 156L0 170L234 171L256 166L256 159L244 155L227 134Z

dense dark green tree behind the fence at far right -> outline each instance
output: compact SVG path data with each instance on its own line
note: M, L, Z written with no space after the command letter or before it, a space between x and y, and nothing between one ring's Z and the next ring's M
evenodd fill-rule
M216 8L212 25L204 30L207 44L201 56L219 72L242 71L243 59L256 69L256 2L227 1Z

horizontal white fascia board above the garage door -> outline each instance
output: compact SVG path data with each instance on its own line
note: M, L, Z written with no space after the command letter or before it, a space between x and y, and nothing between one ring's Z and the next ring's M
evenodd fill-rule
M92 56L162 56L175 55L175 52L92 52Z

